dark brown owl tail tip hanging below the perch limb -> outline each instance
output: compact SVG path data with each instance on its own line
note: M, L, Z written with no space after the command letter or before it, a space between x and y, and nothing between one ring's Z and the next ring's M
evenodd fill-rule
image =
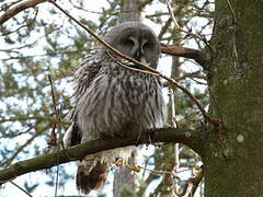
M84 194L101 189L107 178L108 165L105 163L82 161L77 171L77 188Z

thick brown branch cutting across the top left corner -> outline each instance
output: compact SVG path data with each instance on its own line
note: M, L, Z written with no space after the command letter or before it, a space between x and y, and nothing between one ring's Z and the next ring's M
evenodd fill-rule
M23 10L34 8L36 4L39 4L47 0L27 0L14 5L0 16L0 24L3 24L5 21L10 20L18 13L22 12Z

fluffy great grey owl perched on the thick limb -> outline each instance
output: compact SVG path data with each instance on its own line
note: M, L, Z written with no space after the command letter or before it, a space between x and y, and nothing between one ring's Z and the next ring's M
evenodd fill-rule
M148 26L126 22L113 27L104 38L121 53L148 63L158 65L160 44ZM110 55L111 54L111 55ZM107 137L136 138L147 128L164 123L164 103L158 77L129 70L138 65L122 59L102 46L90 54L76 72L70 118L65 135L66 147ZM152 129L155 130L155 129ZM103 187L108 164L127 160L134 147L125 147L87 155L78 166L77 188L89 194Z

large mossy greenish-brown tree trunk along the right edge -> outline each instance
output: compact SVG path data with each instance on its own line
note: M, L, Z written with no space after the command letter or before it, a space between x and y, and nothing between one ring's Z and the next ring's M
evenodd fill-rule
M216 1L208 68L210 113L225 128L209 135L204 148L205 195L259 197L263 195L263 1L231 0L233 13L227 2Z

